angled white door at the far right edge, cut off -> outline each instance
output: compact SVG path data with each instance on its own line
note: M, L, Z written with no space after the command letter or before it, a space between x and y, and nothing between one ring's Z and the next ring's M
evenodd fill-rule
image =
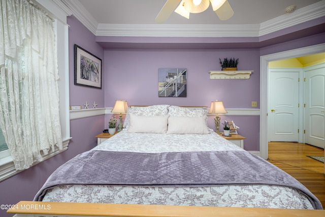
M306 71L305 143L324 148L325 68Z

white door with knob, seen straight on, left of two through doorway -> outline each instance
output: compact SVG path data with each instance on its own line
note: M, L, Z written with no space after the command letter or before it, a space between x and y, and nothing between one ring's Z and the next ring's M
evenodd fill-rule
M269 69L270 141L299 141L299 69Z

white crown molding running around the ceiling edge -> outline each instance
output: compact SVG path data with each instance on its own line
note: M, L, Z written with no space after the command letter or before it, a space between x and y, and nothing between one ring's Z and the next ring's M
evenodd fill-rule
M62 10L71 12L95 36L219 38L238 37L238 35L240 35L241 37L259 37L322 17L325 14L325 1L320 1L302 9L297 9L294 13L284 14L261 24L106 24L98 23L79 1L52 1L62 8Z

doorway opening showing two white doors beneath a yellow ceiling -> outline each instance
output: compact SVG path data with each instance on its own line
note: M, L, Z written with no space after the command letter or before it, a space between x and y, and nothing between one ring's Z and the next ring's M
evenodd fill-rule
M324 148L324 60L320 53L269 62L269 141Z

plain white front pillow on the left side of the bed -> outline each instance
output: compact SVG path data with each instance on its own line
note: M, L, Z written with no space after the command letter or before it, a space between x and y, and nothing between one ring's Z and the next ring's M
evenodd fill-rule
M140 116L129 114L128 132L131 133L166 133L168 125L166 116Z

